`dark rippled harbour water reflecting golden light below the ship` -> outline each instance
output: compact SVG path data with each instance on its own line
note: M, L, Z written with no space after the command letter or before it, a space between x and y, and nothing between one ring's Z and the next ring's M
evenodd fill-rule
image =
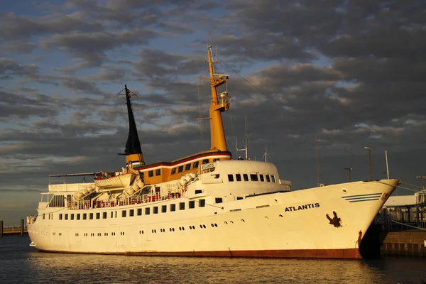
M0 239L0 283L422 283L426 259L187 258L40 253Z

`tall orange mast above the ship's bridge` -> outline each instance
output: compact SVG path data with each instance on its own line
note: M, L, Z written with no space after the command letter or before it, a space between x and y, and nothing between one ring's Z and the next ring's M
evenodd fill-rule
M229 97L227 88L225 92L217 93L217 87L226 84L229 75L215 74L212 59L212 45L207 48L207 58L209 59L210 85L212 87L212 103L209 108L210 119L210 139L211 150L228 151L226 146L226 138L224 133L224 124L222 122L222 112L229 109L231 97Z

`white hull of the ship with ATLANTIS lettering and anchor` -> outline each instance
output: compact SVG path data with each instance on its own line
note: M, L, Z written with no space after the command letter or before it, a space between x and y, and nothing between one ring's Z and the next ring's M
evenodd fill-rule
M142 216L136 215L138 208L187 200L183 197L148 204L78 210L80 214L101 212L102 215L107 212L107 219L99 220L63 222L57 218L41 219L40 212L37 221L28 224L28 234L40 251L361 258L361 239L398 182L351 182ZM129 217L127 212L127 217L121 217L121 211L129 209L135 210L135 216ZM57 208L43 210L45 216L57 211ZM62 214L76 211L61 210ZM116 211L118 217L110 218L111 212L114 215ZM340 220L334 219L334 212Z

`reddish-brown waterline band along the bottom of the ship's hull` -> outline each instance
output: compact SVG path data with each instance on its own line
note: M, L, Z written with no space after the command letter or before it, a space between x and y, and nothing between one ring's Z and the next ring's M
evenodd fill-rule
M94 253L128 256L208 256L208 257L247 257L247 258L362 258L359 249L292 249L263 251L126 251L126 252L73 252L40 251L50 253ZM231 252L231 253L230 253Z

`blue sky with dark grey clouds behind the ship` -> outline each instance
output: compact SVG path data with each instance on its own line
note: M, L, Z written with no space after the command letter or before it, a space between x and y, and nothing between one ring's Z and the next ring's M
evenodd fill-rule
M229 150L265 148L295 189L426 175L424 0L4 1L0 219L35 214L48 175L124 165L124 84L147 163L209 148L207 45L231 75ZM200 61L201 60L201 61ZM402 192L402 191L400 191Z

